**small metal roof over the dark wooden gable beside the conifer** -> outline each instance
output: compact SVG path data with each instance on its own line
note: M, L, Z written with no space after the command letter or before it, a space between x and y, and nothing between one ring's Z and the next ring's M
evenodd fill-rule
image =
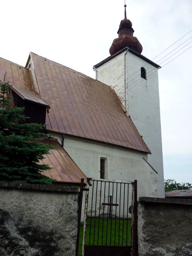
M26 89L22 89L16 86L11 86L11 89L16 92L23 100L33 101L36 104L49 106L47 102L42 100L37 94L30 92Z

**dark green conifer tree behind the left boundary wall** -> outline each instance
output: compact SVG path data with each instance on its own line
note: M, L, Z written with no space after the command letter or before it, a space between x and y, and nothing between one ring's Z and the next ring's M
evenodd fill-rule
M46 137L39 132L43 125L20 124L20 120L26 120L22 115L25 108L11 107L11 99L4 77L4 82L0 80L0 181L52 184L55 180L41 174L51 168L39 164L53 148L36 140Z

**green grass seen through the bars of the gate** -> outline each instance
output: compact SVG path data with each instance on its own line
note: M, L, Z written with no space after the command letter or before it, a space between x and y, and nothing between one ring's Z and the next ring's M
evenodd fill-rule
M103 227L103 228L102 228ZM130 245L131 220L87 219L86 244ZM81 255L83 225L80 227L79 252Z

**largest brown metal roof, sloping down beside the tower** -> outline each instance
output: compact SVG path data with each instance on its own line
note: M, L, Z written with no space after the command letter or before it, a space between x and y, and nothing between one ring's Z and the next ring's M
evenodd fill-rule
M115 92L91 77L31 53L48 130L151 153Z

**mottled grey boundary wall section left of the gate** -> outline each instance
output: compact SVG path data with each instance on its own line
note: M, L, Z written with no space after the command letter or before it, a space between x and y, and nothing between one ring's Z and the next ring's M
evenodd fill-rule
M75 255L78 189L0 182L0 255Z

